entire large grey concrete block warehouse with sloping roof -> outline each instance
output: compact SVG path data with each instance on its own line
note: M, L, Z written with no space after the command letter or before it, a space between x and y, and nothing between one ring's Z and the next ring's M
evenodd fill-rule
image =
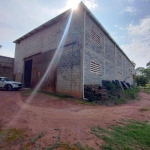
M71 13L68 10L14 41L16 80L34 88L55 61L43 90L84 98L84 85L101 85L102 80L133 84L134 64L82 2L73 11L58 50Z

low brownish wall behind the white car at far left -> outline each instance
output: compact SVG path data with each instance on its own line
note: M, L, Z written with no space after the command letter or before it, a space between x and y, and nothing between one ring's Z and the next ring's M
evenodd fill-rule
M13 79L14 58L0 56L0 76Z

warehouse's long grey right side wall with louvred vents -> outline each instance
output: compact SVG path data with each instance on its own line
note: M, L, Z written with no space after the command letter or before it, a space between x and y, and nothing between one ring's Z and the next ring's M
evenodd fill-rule
M92 31L91 31L92 30ZM100 37L95 42L91 32ZM100 73L91 71L91 62L100 65ZM133 84L134 65L103 29L86 14L84 84L102 84L102 80L119 80Z

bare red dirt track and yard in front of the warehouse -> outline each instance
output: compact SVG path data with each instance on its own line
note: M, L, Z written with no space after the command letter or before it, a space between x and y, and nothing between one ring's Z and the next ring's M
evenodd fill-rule
M30 104L26 104L27 95L22 91L0 91L0 121L2 125L26 128L32 136L46 131L39 143L48 146L58 141L76 143L97 148L102 141L90 133L90 127L107 127L120 119L148 120L150 95L140 93L140 100L134 100L120 106L89 106L75 103L73 100L60 99L38 93ZM21 110L23 106L24 110ZM16 118L17 116L17 118Z

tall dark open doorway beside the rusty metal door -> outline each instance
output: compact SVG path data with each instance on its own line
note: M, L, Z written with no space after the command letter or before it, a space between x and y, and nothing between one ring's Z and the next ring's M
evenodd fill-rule
M24 87L31 88L32 59L24 61Z

